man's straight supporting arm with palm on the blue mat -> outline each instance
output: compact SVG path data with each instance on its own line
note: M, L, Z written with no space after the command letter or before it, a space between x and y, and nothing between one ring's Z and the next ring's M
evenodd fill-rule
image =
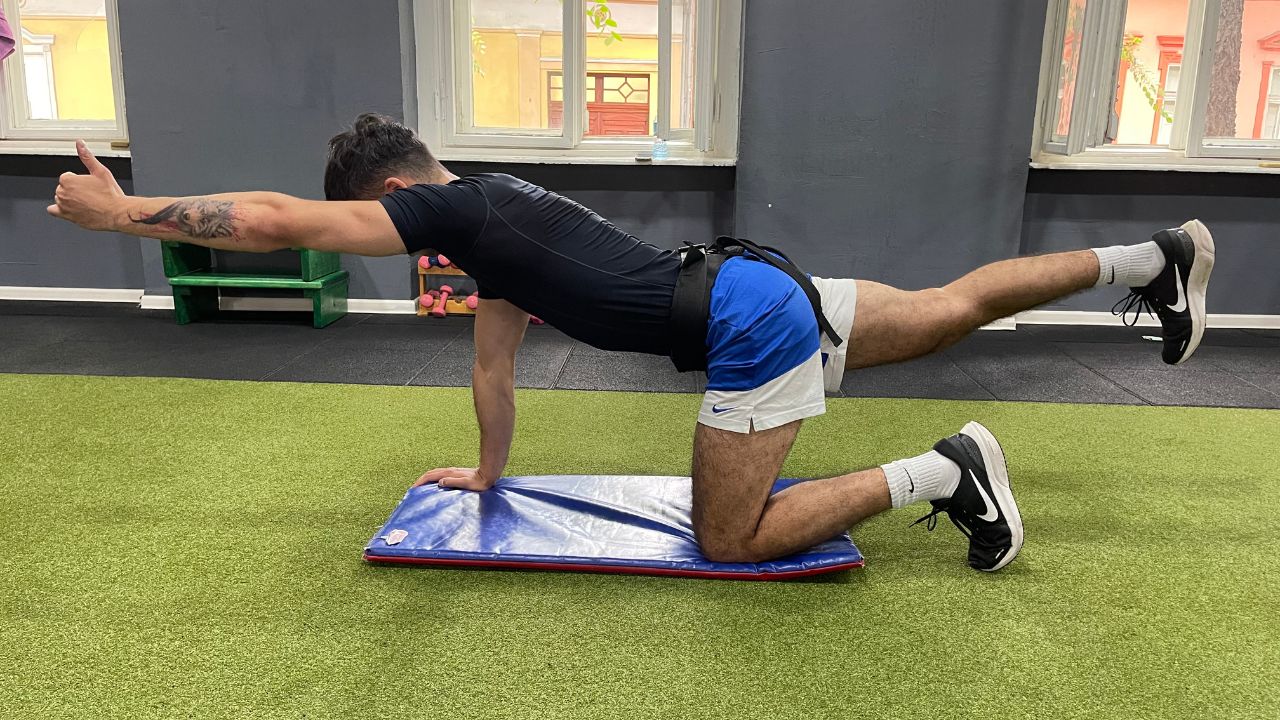
M476 309L476 361L471 395L480 423L480 465L440 468L417 483L483 491L493 487L507 466L516 430L516 350L525 340L529 314L506 300L481 300Z

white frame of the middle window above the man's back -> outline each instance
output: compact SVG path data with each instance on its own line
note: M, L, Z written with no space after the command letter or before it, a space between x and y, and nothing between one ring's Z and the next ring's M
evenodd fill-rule
M530 0L532 1L532 0ZM669 158L655 164L732 165L737 160L741 83L742 0L686 0L695 4L698 77L694 129L671 128L672 0L658 0L658 135ZM596 138L584 135L586 102L585 0L563 3L564 115L562 128L490 129L470 124L470 26L454 23L468 0L415 0L419 133L442 160L635 164L653 147L654 136ZM465 15L463 15L465 17ZM571 81L571 78L577 78ZM580 111L570 111L579 108Z

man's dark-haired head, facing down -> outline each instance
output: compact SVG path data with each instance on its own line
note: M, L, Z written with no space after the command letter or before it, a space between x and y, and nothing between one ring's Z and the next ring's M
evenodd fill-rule
M442 176L444 167L412 129L385 115L365 113L349 131L329 141L324 195L328 200L375 200Z

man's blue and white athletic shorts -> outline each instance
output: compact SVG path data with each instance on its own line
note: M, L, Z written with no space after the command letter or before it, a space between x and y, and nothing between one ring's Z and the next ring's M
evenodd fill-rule
M814 278L814 284L824 314L832 323L847 323L836 325L838 333L847 332L854 281ZM847 313L832 316L828 304L847 306ZM838 360L844 370L842 351L838 357L823 352L828 342L819 340L813 306L786 273L746 258L726 260L712 287L707 396L698 421L745 433L820 415L826 411L824 357Z

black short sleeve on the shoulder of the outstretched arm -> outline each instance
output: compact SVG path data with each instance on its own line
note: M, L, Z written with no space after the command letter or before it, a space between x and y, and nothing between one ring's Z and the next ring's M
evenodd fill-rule
M410 255L426 249L463 255L489 217L484 191L466 179L403 187L384 195L380 202Z

